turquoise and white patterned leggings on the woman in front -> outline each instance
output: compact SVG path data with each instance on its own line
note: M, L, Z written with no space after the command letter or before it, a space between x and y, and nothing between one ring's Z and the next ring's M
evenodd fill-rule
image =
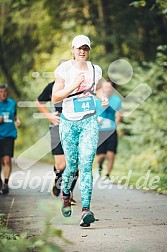
M67 121L62 118L60 121L60 139L66 158L66 168L62 176L63 193L70 194L70 182L79 166L82 208L90 208L92 163L97 149L98 131L96 115L79 121Z

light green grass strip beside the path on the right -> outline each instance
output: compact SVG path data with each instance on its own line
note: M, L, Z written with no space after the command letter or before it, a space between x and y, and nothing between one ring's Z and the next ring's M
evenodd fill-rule
M139 169L134 166L136 159L133 162L129 159L126 161L121 159L120 154L117 154L114 167L111 171L110 178L115 185L124 185L123 188L135 188L141 190L156 191L158 193L167 194L167 176L166 173L154 172L150 169ZM123 162L124 161L124 162ZM140 166L140 164L138 164ZM142 166L142 165L141 165ZM93 169L97 169L97 158L93 165ZM105 176L107 169L107 160L103 164L102 176Z

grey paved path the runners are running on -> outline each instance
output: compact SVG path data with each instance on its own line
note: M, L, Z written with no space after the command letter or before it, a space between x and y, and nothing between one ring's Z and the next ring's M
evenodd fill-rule
M80 191L76 186L71 218L60 214L60 199L54 198L52 166L37 163L30 170L16 166L11 178L12 189L8 196L0 195L0 212L8 216L8 226L16 232L28 231L30 236L42 232L46 215L51 214L52 223L63 230L64 236L73 241L67 244L55 241L67 252L121 251L157 252L167 251L167 196L139 190L99 189L94 186L92 211L97 221L90 228L81 228ZM33 189L34 188L34 189ZM50 213L45 212L45 209Z

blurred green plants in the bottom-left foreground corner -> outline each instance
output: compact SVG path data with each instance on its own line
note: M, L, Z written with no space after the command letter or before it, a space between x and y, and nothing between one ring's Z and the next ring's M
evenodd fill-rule
M48 205L47 205L48 207ZM54 206L55 210L55 204ZM22 232L19 235L15 234L12 230L0 225L0 252L61 252L63 251L58 246L53 238L57 237L67 243L69 240L63 237L63 233L60 229L55 228L52 223L53 211L46 209L46 206L41 205L40 208L46 213L46 219L44 224L44 231L40 235L29 237L26 232ZM54 211L55 215L55 211ZM0 223L3 223L4 215L0 215ZM32 234L31 234L32 235Z

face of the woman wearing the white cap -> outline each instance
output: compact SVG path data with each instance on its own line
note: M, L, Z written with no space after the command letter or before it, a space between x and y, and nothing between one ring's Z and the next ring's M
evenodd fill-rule
M86 61L89 56L90 48L87 45L83 45L79 48L73 47L72 53L77 61Z

